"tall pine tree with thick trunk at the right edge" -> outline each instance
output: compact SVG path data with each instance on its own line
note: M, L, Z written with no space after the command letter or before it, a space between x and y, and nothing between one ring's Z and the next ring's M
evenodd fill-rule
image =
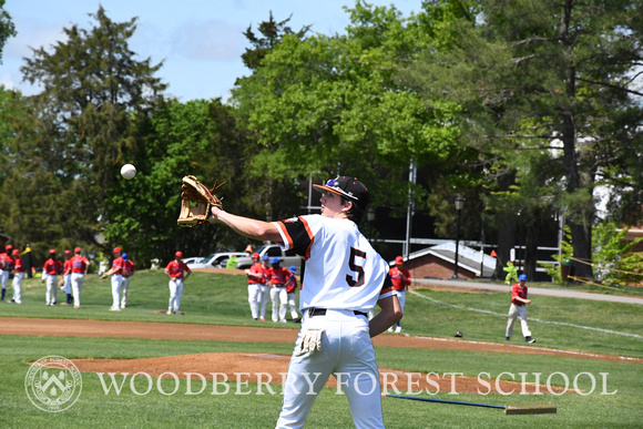
M425 7L446 3L453 2ZM516 183L518 200L547 201L549 213L560 211L574 256L591 261L596 185L613 186L621 213L633 213L642 203L640 3L458 3L468 9L467 17L450 21L452 37L445 45L431 45L410 67L409 84L429 100L462 105L459 124L493 165L488 171L518 174L523 180ZM544 173L524 166L529 152L545 157ZM523 185L537 180L538 186ZM576 267L576 275L592 277L591 265Z

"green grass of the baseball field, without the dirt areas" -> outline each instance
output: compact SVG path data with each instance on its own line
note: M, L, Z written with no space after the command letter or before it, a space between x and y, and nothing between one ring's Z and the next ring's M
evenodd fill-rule
M406 333L432 337L452 337L461 330L466 339L503 343L506 317L509 308L506 294L465 294L418 289L419 295L407 295L407 311L402 320ZM11 296L11 292L9 292ZM111 313L109 280L89 276L83 290L82 307L44 305L44 285L40 280L27 280L23 304L0 305L0 316L53 317L78 319L111 319L142 321L173 321L185 324L248 325L296 329L295 324L255 323L249 319L246 286L243 276L194 273L185 285L182 309L185 316L154 314L166 308L167 279L160 270L140 272L132 278L130 306L124 311ZM429 299L430 298L430 299ZM59 294L59 302L63 295ZM480 310L489 311L481 313ZM643 357L643 311L641 306L534 297L529 309L530 327L538 339L537 347L574 349L621 356ZM268 310L269 314L269 310ZM79 320L79 323L82 323ZM554 325L557 323L559 325ZM2 319L0 317L0 329ZM575 325L575 326L570 326ZM591 329L590 329L591 328ZM596 330L602 329L602 330ZM611 331L611 333L610 333ZM614 334L618 333L618 334ZM387 334L390 335L390 334ZM520 337L520 327L514 329ZM67 358L139 358L186 355L194 353L235 351L289 354L289 344L238 344L222 341L147 340L116 338L70 338L35 336L0 336L1 385L0 425L2 427L274 427L282 397L257 395L257 386L242 389L247 395L233 395L234 384L227 395L212 395L212 380L200 395L186 395L186 380L181 379L174 395L162 395L176 386L164 379L149 395L136 395L125 382L121 395L113 390L105 394L95 374L83 374L82 394L78 402L59 413L37 409L27 398L24 379L29 362L44 356L59 355ZM550 378L552 386L563 387L564 379L571 385L576 378L583 395L568 392L561 396L545 392L542 396L499 394L449 395L440 391L439 399L483 404L532 404L553 401L557 415L504 416L502 410L456 405L382 399L385 423L389 428L419 427L527 427L560 426L588 427L641 427L643 386L641 364L613 362L569 357L476 353L465 350L376 349L380 367L408 371L461 372L477 377L496 378L506 372L519 377L527 372L527 381L533 381L534 372L541 374L541 384ZM216 370L216 369L214 369ZM604 376L602 375L604 374ZM563 376L564 375L564 376ZM595 386L592 385L592 377ZM520 379L518 379L520 380ZM603 386L603 380L605 385ZM491 381L492 382L492 381ZM146 380L137 378L135 391L146 389ZM220 386L221 387L221 386ZM570 386L572 387L572 386ZM275 388L280 391L278 386ZM612 394L614 395L603 395ZM405 395L402 391L401 395ZM351 427L346 398L325 389L315 402L308 426L310 428Z

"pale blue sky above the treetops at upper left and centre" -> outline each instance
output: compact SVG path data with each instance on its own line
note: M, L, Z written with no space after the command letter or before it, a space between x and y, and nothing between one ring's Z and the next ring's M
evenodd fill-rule
M370 0L370 4L390 6L408 17L418 12L421 0ZM355 0L7 0L18 35L9 39L0 64L0 84L17 88L25 95L38 89L22 81L23 58L31 58L29 47L41 48L63 40L63 28L94 24L88 13L102 4L108 17L123 22L137 17L139 24L130 48L152 63L164 61L157 75L170 84L167 93L181 101L221 96L226 100L236 78L247 75L241 55L248 47L243 32L256 30L269 17L283 21L289 16L290 28L313 24L314 33L343 33L348 14L343 6Z

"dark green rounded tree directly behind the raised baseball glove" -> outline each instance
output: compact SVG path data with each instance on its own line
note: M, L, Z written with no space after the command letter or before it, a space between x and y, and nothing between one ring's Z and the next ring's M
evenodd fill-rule
M135 248L140 261L165 261L177 249L205 255L245 248L236 234L222 228L184 228L176 224L181 180L194 175L204 184L226 184L218 191L224 206L244 212L244 161L247 140L235 127L232 108L221 100L170 100L151 118L134 180L118 181L108 205L118 207L105 236ZM225 198L225 196L233 196ZM243 244L243 247L241 247Z

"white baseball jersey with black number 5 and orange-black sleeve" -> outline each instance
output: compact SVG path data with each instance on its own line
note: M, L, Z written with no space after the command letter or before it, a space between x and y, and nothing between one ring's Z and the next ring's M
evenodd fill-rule
M392 295L388 264L349 219L307 215L274 222L284 248L306 259L299 308L368 313Z

